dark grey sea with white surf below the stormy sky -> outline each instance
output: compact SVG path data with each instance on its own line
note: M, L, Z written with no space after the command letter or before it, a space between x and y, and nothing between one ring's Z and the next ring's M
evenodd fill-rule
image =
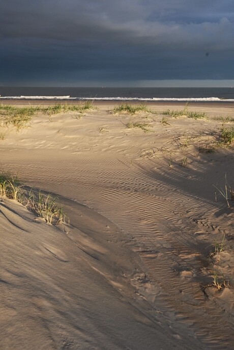
M0 87L0 100L234 102L234 87Z

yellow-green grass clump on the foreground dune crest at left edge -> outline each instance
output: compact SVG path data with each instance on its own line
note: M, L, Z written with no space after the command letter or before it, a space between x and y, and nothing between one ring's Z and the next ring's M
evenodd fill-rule
M33 188L27 192L18 178L11 173L0 173L0 196L1 200L8 198L18 201L28 210L44 218L48 224L57 225L69 221L63 207L56 204L57 198L42 192L37 194Z

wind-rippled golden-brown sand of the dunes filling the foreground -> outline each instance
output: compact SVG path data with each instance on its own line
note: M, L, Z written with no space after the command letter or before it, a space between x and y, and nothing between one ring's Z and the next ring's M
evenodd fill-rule
M1 349L233 349L234 210L214 187L234 187L233 148L199 151L233 107L199 105L209 118L167 124L171 105L150 107L112 115L99 104L1 127L1 170L61 196L70 217L54 227L0 203ZM227 288L202 288L214 271Z

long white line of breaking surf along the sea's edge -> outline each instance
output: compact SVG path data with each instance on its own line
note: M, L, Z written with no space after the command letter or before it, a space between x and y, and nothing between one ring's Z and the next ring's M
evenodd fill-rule
M78 100L78 101L152 101L152 102L234 102L234 99L206 98L137 98L137 97L70 97L70 96L0 96L0 100Z

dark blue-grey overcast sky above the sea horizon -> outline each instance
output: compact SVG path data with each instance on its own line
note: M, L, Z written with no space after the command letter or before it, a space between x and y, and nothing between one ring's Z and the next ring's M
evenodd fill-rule
M233 80L233 36L233 0L0 0L0 85Z

